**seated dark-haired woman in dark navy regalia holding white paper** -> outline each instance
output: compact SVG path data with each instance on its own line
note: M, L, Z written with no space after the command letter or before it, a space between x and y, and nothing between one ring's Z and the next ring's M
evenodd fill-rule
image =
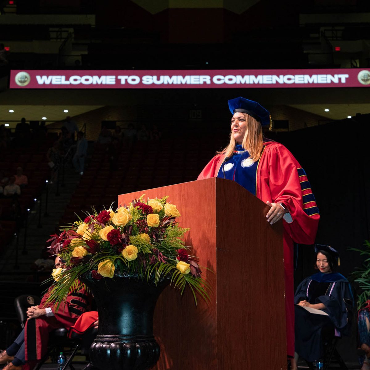
M320 272L297 287L295 303L295 351L308 362L323 357L323 340L349 335L353 294L348 280L338 272L339 253L329 245L315 245Z

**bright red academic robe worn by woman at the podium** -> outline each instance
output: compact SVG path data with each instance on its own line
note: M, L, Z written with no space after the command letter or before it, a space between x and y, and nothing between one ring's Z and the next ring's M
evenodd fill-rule
M217 176L225 155L219 154L205 166L198 180ZM263 202L283 202L292 222L283 219L285 269L285 313L287 354L294 356L293 242L313 244L320 219L305 171L282 144L264 143L258 169L256 196Z

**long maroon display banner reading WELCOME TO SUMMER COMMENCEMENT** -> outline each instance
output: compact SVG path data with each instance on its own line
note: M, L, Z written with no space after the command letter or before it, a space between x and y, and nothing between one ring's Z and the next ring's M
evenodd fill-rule
M366 87L361 68L295 70L11 70L10 88L173 89Z

